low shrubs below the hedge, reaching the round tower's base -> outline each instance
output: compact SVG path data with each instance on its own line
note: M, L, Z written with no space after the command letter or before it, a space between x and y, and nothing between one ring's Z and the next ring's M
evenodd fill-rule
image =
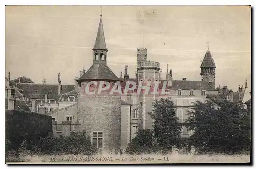
M9 140L6 140L6 147L9 145ZM55 137L49 133L47 137L40 138L37 143L30 143L28 146L26 140L20 144L18 151L13 150L10 146L6 149L7 162L22 162L24 157L31 154L82 154L93 155L97 154L98 149L92 146L90 137L85 131L71 133L70 136Z

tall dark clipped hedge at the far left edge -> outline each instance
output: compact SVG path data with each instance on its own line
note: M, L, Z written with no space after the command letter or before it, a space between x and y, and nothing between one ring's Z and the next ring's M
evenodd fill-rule
M10 149L18 151L23 140L27 141L27 148L31 149L30 140L36 143L40 137L46 137L49 132L52 132L51 116L17 110L6 111L7 151Z

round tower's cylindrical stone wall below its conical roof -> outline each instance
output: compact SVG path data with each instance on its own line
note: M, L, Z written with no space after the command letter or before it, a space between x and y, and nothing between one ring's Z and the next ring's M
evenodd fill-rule
M93 132L103 132L103 153L120 152L121 140L121 96L86 95L81 83L78 94L78 121L81 129L92 138Z

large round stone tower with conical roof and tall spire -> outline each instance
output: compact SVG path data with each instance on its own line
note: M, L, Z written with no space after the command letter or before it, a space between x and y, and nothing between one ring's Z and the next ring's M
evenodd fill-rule
M104 82L109 82L110 86L114 86L115 82L122 81L108 67L107 53L101 14L93 47L93 64L76 80L80 86L77 121L81 124L81 129L90 134L92 144L103 153L120 153L121 95L111 95L110 90L98 93L100 84L104 87ZM92 81L96 81L97 85L88 85ZM95 94L87 94L88 86Z

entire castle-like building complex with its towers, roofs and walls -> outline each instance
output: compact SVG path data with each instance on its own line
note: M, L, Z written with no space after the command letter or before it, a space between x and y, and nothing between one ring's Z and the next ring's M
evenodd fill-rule
M128 66L125 66L124 77L121 74L118 78L107 65L111 56L106 47L102 16L92 53L88 57L93 60L92 66L87 71L80 71L73 85L62 85L58 74L58 82L54 85L17 83L15 94L16 100L25 101L30 111L52 116L56 136L85 130L92 144L104 153L118 154L136 136L138 129L152 129L149 112L152 112L154 100L171 97L177 108L179 122L183 124L194 102L212 100L216 108L219 108L218 102L221 99L239 101L247 89L247 82L245 88L239 87L238 92L228 90L225 86L222 89L215 88L216 65L209 50L199 69L201 81L186 78L174 80L168 65L166 78L162 78L160 64L147 60L150 56L146 48L137 49L136 78L129 78ZM112 86L120 82L122 87L133 81L137 88L125 95L110 95L108 90L100 95L87 95L85 86L92 81L109 82ZM144 85L158 82L164 94L138 95L140 82ZM162 85L164 82L166 88ZM99 86L90 88L97 90ZM185 127L182 128L182 137L191 134Z

